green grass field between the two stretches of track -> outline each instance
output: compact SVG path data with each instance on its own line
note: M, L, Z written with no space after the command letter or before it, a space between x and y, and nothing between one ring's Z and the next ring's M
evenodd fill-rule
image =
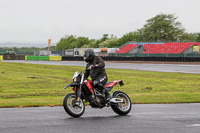
M0 107L62 105L63 87L85 67L0 62ZM108 81L123 79L132 103L200 102L200 75L107 69Z

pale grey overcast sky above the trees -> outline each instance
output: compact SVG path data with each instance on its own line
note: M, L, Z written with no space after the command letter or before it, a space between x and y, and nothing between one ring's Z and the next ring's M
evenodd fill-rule
M187 32L200 32L200 0L0 0L0 42L119 38L160 13L176 14Z

